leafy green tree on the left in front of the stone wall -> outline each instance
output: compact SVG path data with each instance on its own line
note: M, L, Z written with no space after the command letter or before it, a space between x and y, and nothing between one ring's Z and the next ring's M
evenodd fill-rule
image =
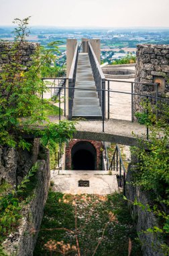
M13 23L17 25L14 30L15 39L12 44L5 44L3 59L7 59L7 63L3 63L0 73L0 145L27 149L31 145L23 139L22 132L48 137L48 141L62 141L70 138L74 131L73 123L64 121L51 124L44 113L40 98L42 92L48 90L41 74L47 65L56 60L53 52L58 51L57 42L50 43L48 50L37 44L30 67L21 64L21 49L27 45L29 21L30 17L14 20ZM44 121L48 121L46 129L32 130L32 125L40 125ZM44 141L48 144L46 139Z

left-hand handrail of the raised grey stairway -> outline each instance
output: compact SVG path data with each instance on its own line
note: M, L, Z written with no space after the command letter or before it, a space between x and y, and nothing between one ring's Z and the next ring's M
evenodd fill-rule
M72 65L68 76L68 119L72 119L72 106L74 98L74 87L76 82L76 69L78 62L78 43L74 51L74 57L72 59Z

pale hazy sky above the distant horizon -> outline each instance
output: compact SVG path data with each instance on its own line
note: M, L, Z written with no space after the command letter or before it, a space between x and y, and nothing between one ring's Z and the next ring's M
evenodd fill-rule
M0 25L169 27L169 0L0 0Z

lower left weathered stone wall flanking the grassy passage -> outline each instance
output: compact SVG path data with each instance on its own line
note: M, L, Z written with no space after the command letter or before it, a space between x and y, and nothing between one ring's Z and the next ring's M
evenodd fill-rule
M34 189L32 201L24 205L21 215L21 224L9 235L3 243L7 255L32 256L38 238L38 231L44 214L44 205L48 197L50 185L49 154L46 152L46 161L38 160L38 181Z

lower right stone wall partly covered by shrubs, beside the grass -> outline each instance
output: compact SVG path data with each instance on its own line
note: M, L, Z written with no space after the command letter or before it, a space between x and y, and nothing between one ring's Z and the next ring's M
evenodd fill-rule
M143 191L140 187L131 185L131 182L134 181L134 174L136 168L134 165L129 165L127 171L127 183L126 183L126 197L130 201L135 201L135 198L138 202L143 205L151 205L149 200L149 195L146 191ZM139 241L142 245L143 256L164 256L160 249L161 238L158 237L158 234L153 234L151 232L144 232L148 228L153 228L154 226L159 226L156 216L153 212L147 212L142 210L141 207L129 203L131 210L131 215L133 220L136 222L136 228L139 236Z

